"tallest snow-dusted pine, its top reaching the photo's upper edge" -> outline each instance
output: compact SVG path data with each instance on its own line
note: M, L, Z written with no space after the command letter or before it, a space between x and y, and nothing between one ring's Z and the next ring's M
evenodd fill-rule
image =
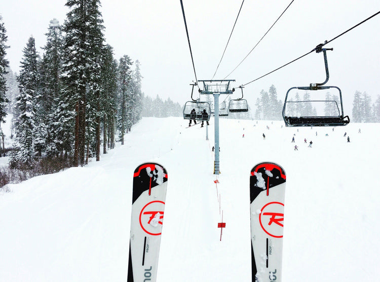
M98 107L94 96L100 95L104 27L99 0L68 0L65 6L70 11L63 27L66 33L62 65L63 92L67 106L75 112L73 162L75 166L83 166L86 147L94 143L94 140L86 140L86 136L95 138L93 129L96 127Z

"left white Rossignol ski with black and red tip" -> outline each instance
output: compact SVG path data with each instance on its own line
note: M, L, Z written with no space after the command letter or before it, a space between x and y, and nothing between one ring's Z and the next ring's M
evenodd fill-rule
M156 281L167 181L158 163L134 171L128 282Z

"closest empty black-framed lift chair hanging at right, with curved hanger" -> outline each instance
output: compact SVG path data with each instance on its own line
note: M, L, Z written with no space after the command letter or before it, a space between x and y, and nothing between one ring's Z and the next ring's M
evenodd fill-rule
M328 65L327 65L327 55L326 50L333 50L331 49L325 49L322 48L323 44L319 44L316 47L316 52L320 53L323 52L324 62L325 62L325 69L326 69L326 80L323 83L311 83L310 86L305 87L292 87L286 92L285 101L284 101L284 107L282 109L282 117L285 122L285 126L344 126L347 125L350 122L350 118L348 116L344 116L343 113L343 100L341 96L341 91L337 86L322 86L327 83L329 79L329 73L328 73ZM300 90L311 90L311 91L317 91L317 90L324 90L324 89L330 89L335 88L339 92L339 101L335 100L303 100L303 101L291 101L288 100L288 94L292 89L300 89ZM310 103L310 102L325 102L325 103L331 103L334 105L335 108L335 115L332 116L288 116L286 115L286 105L289 103ZM340 109L339 109L340 106Z

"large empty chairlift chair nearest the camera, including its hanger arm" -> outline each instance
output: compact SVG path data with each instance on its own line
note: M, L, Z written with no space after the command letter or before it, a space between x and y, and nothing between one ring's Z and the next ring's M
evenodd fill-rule
M284 107L282 110L282 117L286 126L343 126L350 122L350 118L344 116L343 113L343 101L340 89L336 86L323 86L329 79L326 50L332 50L332 48L322 49L322 44L316 47L317 53L323 52L326 80L323 83L311 83L310 86L292 87L286 92ZM310 91L310 93L306 92L306 95L304 95L302 100L293 100L289 96L289 92L293 89ZM312 96L318 97L316 93L317 91L321 92L319 90L328 89L336 89L338 95L334 95L334 99L326 98L331 96L329 92L327 92L324 99L311 98ZM314 108L313 105L315 105ZM318 115L316 108L319 108L321 111L322 107L324 107L324 114Z

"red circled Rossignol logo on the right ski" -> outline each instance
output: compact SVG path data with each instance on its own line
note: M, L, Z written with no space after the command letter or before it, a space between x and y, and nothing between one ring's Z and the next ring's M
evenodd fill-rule
M261 208L259 221L262 230L275 238L282 238L284 227L284 204L270 202Z

